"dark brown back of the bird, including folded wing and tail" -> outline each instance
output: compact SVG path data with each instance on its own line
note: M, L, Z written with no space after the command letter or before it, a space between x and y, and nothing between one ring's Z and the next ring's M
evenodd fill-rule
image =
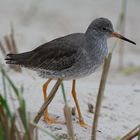
M84 44L84 34L70 34L45 43L30 52L9 54L6 60L9 64L18 64L39 72L58 73L69 69L80 60Z

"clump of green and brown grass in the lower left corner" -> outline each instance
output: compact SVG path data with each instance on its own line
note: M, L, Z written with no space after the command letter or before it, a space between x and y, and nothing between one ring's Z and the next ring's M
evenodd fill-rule
M54 140L60 140L52 132L32 123L26 110L22 91L13 83L2 65L0 65L0 73L3 77L3 93L0 93L0 140L38 140L38 129ZM18 108L9 98L13 96L8 92L9 87L12 88L14 97L17 98Z

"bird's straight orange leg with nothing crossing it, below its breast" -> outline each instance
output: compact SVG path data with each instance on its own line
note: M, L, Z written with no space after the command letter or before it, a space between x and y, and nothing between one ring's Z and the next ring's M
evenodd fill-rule
M79 104L78 104L78 100L77 100L77 97L76 97L75 84L76 84L76 81L73 80L73 82L72 82L72 96L73 96L73 99L74 99L74 102L75 102L75 105L76 105L76 108L77 108L77 111L78 111L79 123L80 123L81 126L86 127L87 125L84 122L84 119L82 117L80 107L79 107Z

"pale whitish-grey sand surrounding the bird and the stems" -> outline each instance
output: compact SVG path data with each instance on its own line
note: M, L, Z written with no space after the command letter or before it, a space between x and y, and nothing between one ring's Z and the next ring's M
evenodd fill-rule
M36 46L72 32L84 32L88 24L96 17L108 17L115 25L117 22L121 0L0 0L0 38L9 33L10 22L15 29L19 52L28 51ZM126 43L124 67L140 66L140 1L128 1L126 17L126 36L137 43L136 47ZM109 47L114 39L108 41ZM130 46L130 47L129 47ZM123 136L140 122L140 72L124 75L118 71L118 49L113 54L110 73L102 105L98 140L113 140ZM0 59L4 63L3 57ZM8 71L10 77L18 86L24 86L24 97L27 101L27 110L34 116L43 103L41 86L45 79L39 78L34 72L23 69L21 73ZM93 75L77 80L77 96L85 121L92 125L93 115L88 112L88 103L95 107L97 91L101 76L101 69ZM53 81L50 86L54 85ZM68 103L74 106L71 97L71 81L65 83ZM0 90L2 90L0 83ZM64 101L61 89L49 106L53 116L64 121ZM55 124L47 125L40 120L39 125L53 131L57 135L66 137L66 126ZM90 128L81 128L77 119L73 118L76 138L89 140ZM66 137L67 139L67 137ZM39 140L51 140L48 135L39 132Z

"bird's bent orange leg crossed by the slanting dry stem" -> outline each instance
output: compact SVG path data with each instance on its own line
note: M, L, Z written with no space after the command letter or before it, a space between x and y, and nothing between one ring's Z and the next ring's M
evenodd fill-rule
M51 82L51 78L48 79L46 81L46 83L43 85L43 96L44 96L44 102L47 100L47 88L49 83ZM44 120L48 123L48 124L52 124L52 123L56 123L56 119L54 118L50 118L49 114L48 114L48 108L46 108L45 112L44 112Z

